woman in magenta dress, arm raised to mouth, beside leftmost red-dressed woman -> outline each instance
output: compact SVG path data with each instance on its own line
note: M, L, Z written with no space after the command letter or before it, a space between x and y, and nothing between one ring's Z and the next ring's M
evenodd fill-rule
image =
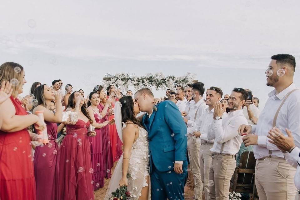
M62 122L63 107L62 94L51 90L47 85L40 85L34 90L37 106L33 107L33 113L43 111L47 125L47 133L50 143L36 147L34 153L34 176L37 184L37 200L58 199L58 145L57 124ZM56 100L55 114L49 110L51 101Z

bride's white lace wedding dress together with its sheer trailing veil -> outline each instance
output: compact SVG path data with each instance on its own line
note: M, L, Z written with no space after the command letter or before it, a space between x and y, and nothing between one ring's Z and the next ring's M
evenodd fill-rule
M123 123L123 128L126 124ZM122 129L123 129L122 128ZM151 199L151 187L147 183L146 177L149 176L149 143L148 143L148 132L141 127L138 127L139 135L137 140L133 143L131 157L128 166L128 191L132 194L134 200L138 200L141 196L143 187L149 185L149 198ZM119 188L119 181L122 178L122 164L123 154L120 157L117 166L113 172L113 176L109 182L108 189L105 195L105 200L111 197L111 193Z

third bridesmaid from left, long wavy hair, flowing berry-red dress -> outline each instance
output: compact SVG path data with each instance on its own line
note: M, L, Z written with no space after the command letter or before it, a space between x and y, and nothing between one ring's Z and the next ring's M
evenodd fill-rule
M59 153L59 198L63 200L91 200L93 195L92 162L89 136L90 123L93 123L84 98L79 92L70 95L68 106L78 113L78 121L65 123L67 135L60 145Z

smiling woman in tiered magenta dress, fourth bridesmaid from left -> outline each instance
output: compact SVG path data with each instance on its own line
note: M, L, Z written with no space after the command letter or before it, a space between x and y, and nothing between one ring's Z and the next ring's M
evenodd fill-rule
M100 97L97 92L91 92L88 101L88 113L93 121L92 126L95 127L97 135L95 137L88 138L91 143L91 159L94 181L94 190L104 186L104 172L107 170L104 168L104 155L103 155L103 141L105 140L103 134L103 127L109 124L110 121L104 121L101 123L102 116L98 109L100 103ZM112 124L112 123L110 123Z

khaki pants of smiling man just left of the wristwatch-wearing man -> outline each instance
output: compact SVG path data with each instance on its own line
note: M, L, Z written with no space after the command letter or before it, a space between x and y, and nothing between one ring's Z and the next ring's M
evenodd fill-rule
M209 168L212 163L212 148L213 143L201 143L200 146L200 172L201 181L204 188L205 199L209 200Z

